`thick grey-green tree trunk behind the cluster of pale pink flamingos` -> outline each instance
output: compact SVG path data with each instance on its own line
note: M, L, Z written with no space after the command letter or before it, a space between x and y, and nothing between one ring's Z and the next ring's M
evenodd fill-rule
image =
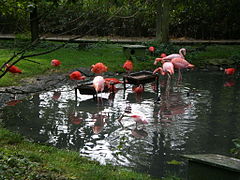
M170 0L158 0L156 40L162 43L167 43L169 41L169 6Z

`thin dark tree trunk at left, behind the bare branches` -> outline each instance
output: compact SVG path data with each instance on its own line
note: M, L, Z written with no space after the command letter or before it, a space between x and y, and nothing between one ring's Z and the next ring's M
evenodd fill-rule
M39 39L39 22L38 22L38 13L37 6L35 5L34 9L30 12L30 25L31 25L31 38L32 41Z

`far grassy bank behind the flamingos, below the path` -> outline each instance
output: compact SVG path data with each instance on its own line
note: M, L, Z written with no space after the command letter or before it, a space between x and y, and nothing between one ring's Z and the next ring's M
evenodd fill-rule
M42 42L37 48L27 52L26 54L38 53L56 47L61 43ZM134 61L134 71L153 70L155 66L153 61L160 53L167 54L177 53L180 46L163 45L156 42L145 44L156 47L156 53L151 56L148 52L144 60ZM6 62L14 52L24 47L24 42L16 41L0 41L0 64ZM14 48L13 48L14 47ZM196 65L197 68L205 68L208 65L215 66L235 66L240 62L240 46L239 45L209 45L209 46L185 46L187 49L186 59ZM26 55L25 54L25 55ZM59 59L62 65L59 68L50 66L52 59ZM32 60L36 63L33 63ZM85 47L79 47L78 43L68 44L65 48L54 51L52 53L32 57L17 63L17 66L23 70L20 75L7 73L5 77L0 79L0 86L19 85L20 80L26 77L48 74L53 72L68 72L78 67L89 67L97 62L103 62L108 66L111 72L124 72L122 68L126 57L123 54L122 45L97 43L89 44Z

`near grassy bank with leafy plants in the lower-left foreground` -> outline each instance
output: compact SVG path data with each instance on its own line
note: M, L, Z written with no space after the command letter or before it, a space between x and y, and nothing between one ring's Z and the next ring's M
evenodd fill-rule
M35 144L0 127L0 179L153 180L131 170L102 166L73 151ZM169 177L164 180L177 180Z

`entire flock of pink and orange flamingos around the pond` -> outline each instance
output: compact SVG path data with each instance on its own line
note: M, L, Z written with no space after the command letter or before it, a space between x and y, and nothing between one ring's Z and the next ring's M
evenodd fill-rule
M153 46L149 47L149 52L154 53L155 48ZM170 54L166 55L165 53L162 53L160 57L156 58L154 61L154 65L158 65L160 63L160 67L157 67L154 71L153 74L159 73L161 75L167 75L169 78L174 74L175 69L178 70L178 81L182 80L182 74L181 74L181 69L185 68L194 68L194 65L189 63L186 59L186 49L181 48L179 50L179 53L176 54ZM53 59L51 61L52 66L60 66L62 63L61 61L57 59ZM127 74L130 74L133 71L134 65L131 60L126 60L126 62L122 66ZM15 65L9 65L6 64L6 70L13 73L13 74L20 74L22 73L22 70L18 68ZM104 78L102 74L104 72L108 71L108 67L101 63L98 62L94 65L91 66L91 71L96 74L96 76L93 79L93 87L96 91L96 94L101 93L104 91L104 89L109 90L109 92L116 92L117 88L114 86L115 84L123 83L122 81L116 79L116 78ZM235 68L227 68L224 69L224 73L226 75L233 75L236 72ZM80 71L74 71L69 74L69 78L71 80L85 80L86 76L82 75ZM232 86L232 84L226 84L224 86ZM136 94L141 94L144 91L144 86L143 85L138 85L138 86L133 86L132 91L135 92ZM55 97L56 96L56 97ZM54 97L58 98L59 94L56 94ZM146 118L143 116L137 114L132 114L130 116L133 118L137 123L139 124L147 124Z

